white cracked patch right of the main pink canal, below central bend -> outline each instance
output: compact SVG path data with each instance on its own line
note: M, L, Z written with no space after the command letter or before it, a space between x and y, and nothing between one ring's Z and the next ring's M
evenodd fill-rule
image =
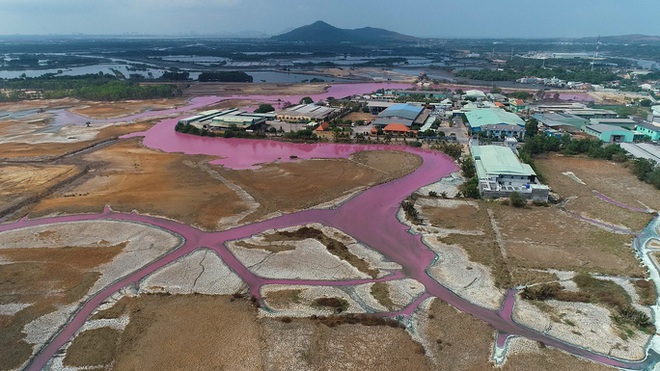
M493 310L500 308L505 293L495 286L487 267L470 261L458 246L444 244L433 237L423 238L438 254L438 260L428 269L431 277L474 304Z

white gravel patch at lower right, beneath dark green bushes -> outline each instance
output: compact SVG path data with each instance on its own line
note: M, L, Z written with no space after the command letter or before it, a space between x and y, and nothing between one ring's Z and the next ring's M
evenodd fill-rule
M646 343L650 336L636 331L632 338L621 339L608 309L589 303L556 300L547 300L545 303L554 309L554 315L561 322L553 321L550 314L520 298L516 300L514 320L544 334L603 354L628 360L645 357Z

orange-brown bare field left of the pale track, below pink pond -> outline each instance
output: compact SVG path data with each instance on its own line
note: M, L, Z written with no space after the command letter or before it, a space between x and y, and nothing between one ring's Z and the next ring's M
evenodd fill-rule
M138 139L122 141L86 155L105 166L80 182L50 195L28 210L34 215L139 210L214 229L222 217L245 210L236 193L211 174L190 166L203 156L162 153Z

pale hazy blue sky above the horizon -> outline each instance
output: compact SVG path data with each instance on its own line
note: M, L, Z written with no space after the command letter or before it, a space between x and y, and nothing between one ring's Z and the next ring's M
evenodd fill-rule
M660 35L660 0L0 0L0 34L268 35L326 21L419 37Z

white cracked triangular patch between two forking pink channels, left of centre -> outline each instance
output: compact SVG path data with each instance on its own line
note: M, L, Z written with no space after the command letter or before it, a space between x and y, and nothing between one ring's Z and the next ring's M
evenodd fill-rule
M213 250L200 249L157 270L140 283L140 294L229 295L245 285Z

